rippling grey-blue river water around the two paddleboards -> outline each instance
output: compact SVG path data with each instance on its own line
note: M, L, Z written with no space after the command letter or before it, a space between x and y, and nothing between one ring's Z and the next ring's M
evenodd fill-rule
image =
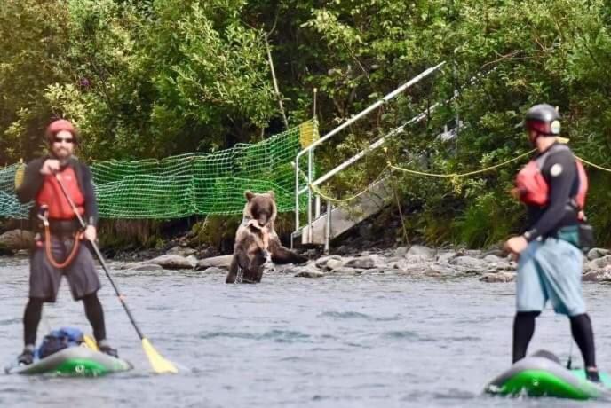
M575 406L482 395L510 364L513 284L274 274L259 285L227 286L224 275L198 271L112 273L142 331L180 373L150 372L137 334L102 277L108 337L136 368L95 379L2 374L0 406ZM586 284L584 292L605 368L611 361L611 286ZM27 259L0 258L3 365L22 347L27 293ZM58 302L45 307L39 338L60 326L91 332L66 282ZM566 360L569 339L567 319L547 310L537 319L529 350L550 349ZM573 354L581 365L576 347ZM602 406L580 406L597 404Z

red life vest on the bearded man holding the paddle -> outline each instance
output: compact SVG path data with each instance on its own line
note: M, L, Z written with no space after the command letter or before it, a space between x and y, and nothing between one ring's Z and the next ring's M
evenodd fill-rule
M76 208L81 216L85 212L83 207L85 197L78 185L75 170L71 167L60 170L57 174L61 177L61 182L66 187L67 193L74 201ZM49 219L69 220L75 218L75 212L70 207L64 192L61 191L60 184L54 175L44 177L43 188L36 196L38 206L46 205L49 208Z

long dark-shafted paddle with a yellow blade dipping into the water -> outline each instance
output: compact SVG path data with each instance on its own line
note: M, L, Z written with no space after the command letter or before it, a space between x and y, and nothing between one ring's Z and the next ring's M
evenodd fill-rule
M70 207L72 207L72 210L75 212L75 215L78 218L79 223L81 223L81 226L83 228L86 228L87 225L83 221L83 217L78 213L78 209L76 208L75 202L72 200L70 195L67 193L66 186L64 186L63 182L61 181L60 175L56 173L55 179L58 181L58 184L60 184L61 192L64 193L64 196L66 197L67 202L70 203ZM133 316L131 316L131 311L127 307L127 303L125 303L125 299L123 299L123 295L119 292L119 288L115 285L115 280L110 276L110 272L108 271L106 262L104 262L104 257L99 252L98 245L96 245L96 243L93 241L90 241L90 243L91 243L91 247L93 248L93 252L98 257L99 263L101 263L102 265L102 269L106 272L106 276L108 280L110 281L110 285L112 285L113 288L115 289L116 296L119 298L119 301L121 301L123 309L127 313L128 318L130 318L131 325L134 326L134 328L136 329L136 333L138 333L139 338L142 341L142 349L144 349L144 352L148 357L148 361L151 364L151 366L153 366L153 370L155 371L155 373L178 373L179 372L178 368L176 368L176 366L173 365L171 361L163 358L157 352L157 350L155 350L151 342L148 341L148 339L144 336L144 334L140 332L140 329L138 325L136 324L136 321L134 320Z

